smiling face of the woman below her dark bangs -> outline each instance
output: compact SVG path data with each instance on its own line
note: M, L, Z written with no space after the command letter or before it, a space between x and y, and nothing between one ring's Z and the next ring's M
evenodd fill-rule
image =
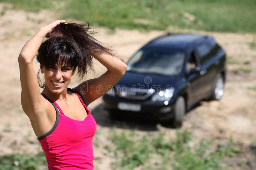
M41 67L44 72L44 80L46 86L52 93L61 93L67 87L71 81L72 75L74 75L74 67L67 65L55 65L48 68Z

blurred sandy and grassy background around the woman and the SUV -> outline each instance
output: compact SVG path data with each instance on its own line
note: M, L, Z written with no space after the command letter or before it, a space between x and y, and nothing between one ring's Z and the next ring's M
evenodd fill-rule
M89 22L93 36L125 62L166 32L212 35L227 53L223 98L198 103L179 129L111 119L102 98L91 103L95 170L256 169L255 9L254 0L0 0L0 169L47 169L21 108L18 55L40 27L59 19ZM85 80L106 71L96 60L94 69Z

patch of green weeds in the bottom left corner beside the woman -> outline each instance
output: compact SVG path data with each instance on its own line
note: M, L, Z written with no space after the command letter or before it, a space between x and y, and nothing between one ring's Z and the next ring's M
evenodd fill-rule
M40 152L36 155L20 155L10 154L0 156L0 169L3 170L32 170L39 169L39 166L45 166L47 161L44 152Z

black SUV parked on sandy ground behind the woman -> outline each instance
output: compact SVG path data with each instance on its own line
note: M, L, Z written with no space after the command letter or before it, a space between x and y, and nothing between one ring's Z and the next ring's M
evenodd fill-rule
M226 53L211 36L166 34L141 47L120 81L103 96L109 114L136 114L180 127L186 111L205 98L220 100Z

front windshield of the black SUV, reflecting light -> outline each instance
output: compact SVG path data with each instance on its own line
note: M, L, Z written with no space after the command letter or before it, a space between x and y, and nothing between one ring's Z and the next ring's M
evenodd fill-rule
M179 75L185 53L177 50L140 49L127 63L127 71L161 75Z

